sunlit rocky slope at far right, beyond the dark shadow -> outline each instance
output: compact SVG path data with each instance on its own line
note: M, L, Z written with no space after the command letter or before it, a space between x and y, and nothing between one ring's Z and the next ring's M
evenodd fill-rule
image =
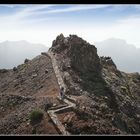
M117 112L113 125L126 133L140 133L140 75L126 74L116 69L109 57L102 57L103 79L115 96Z

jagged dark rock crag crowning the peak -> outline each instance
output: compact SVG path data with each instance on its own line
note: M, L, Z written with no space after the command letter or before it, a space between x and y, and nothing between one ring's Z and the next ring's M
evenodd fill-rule
M63 34L57 36L53 41L52 48L54 53L62 55L65 61L63 67L72 67L75 71L85 74L85 72L99 73L101 70L100 59L97 55L97 49L82 38L76 35L64 37ZM66 59L65 59L65 58ZM69 58L69 60L67 60ZM69 63L69 64L68 64Z

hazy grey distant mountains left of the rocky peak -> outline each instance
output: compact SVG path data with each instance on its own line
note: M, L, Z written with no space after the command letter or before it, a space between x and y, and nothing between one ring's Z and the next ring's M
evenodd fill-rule
M0 43L0 69L11 69L22 64L26 58L32 59L47 47L42 44L32 44L27 41L5 41Z

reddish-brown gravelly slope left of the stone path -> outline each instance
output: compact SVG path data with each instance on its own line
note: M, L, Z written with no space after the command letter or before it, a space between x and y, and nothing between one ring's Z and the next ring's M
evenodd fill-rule
M50 57L43 53L14 70L0 71L0 134L58 134L44 110L56 99L59 87ZM43 112L43 120L30 123L34 109Z

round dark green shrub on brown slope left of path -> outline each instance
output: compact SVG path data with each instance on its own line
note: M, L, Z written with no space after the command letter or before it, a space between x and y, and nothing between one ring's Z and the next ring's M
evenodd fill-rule
M40 121L43 118L43 113L39 110L33 110L30 114L31 122Z

